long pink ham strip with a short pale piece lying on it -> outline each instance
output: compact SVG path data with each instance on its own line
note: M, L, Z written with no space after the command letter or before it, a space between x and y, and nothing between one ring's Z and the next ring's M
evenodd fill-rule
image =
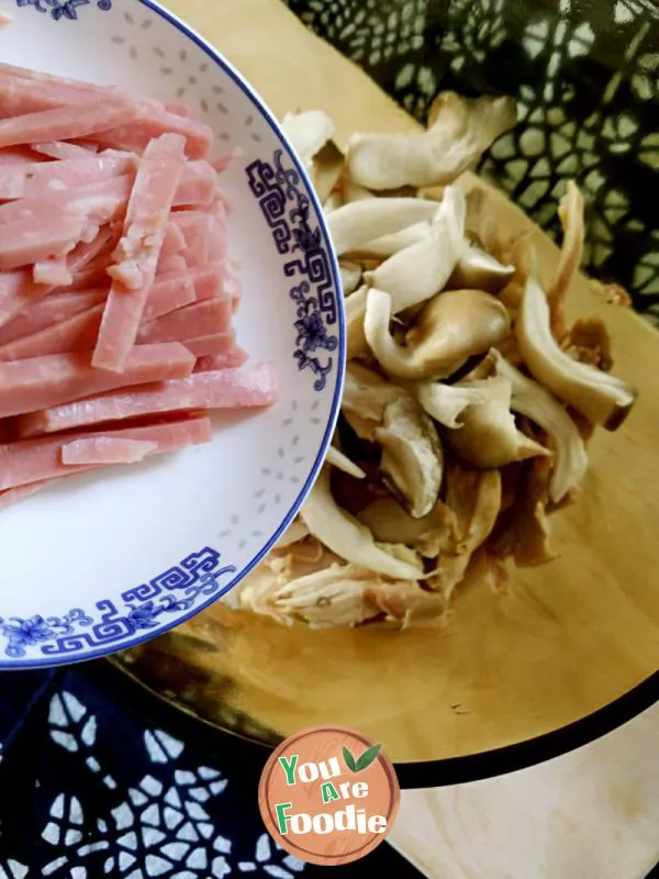
M101 434L80 434L71 436L22 439L0 446L0 490L27 486L71 472L86 472L97 465L63 464L63 447L75 439L97 436L122 437L136 442L155 443L157 450L152 454L167 454L188 445L202 445L211 441L211 422L206 418L183 419L166 424L145 427L124 427ZM150 455L149 455L150 457Z

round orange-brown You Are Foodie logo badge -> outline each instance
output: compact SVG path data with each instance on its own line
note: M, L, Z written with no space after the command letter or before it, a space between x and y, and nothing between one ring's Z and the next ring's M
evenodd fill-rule
M303 745L305 743L310 746L310 749L304 754ZM355 747L356 744L367 750L379 747L364 734L345 726L311 726L301 730L282 742L266 763L258 787L258 805L261 817L270 836L289 854L300 860L322 867L350 864L366 857L377 848L386 839L387 834L393 826L401 800L401 789L393 765L389 757L379 749L377 756L364 769L350 770L346 764L345 752L348 750L347 756L349 757L348 745ZM327 748L330 748L330 752L334 749L335 753L325 753ZM295 755L293 752L304 754L303 760L299 760L300 754ZM291 755L290 759L288 759L288 755ZM283 758L284 761L288 759L286 768L280 758ZM300 778L292 782L289 780L291 776L294 776L294 771L298 768L313 765L316 766L316 769L322 767L328 772L328 767L335 769L338 765L340 768L342 763L348 772L351 771L355 775L346 775L342 770L339 776L336 776L336 774L322 776L322 770L319 770L319 778L309 781ZM277 770L281 772L279 778L277 778ZM360 775L362 776L361 779L359 778ZM325 780L323 781L322 778ZM369 778L369 781L366 781L366 778ZM298 787L298 797L295 798L294 791L298 783L300 783L300 787ZM327 792L333 793L332 802L330 803L324 799L327 786L332 788L332 791ZM340 790L340 798L337 795L337 788ZM357 788L359 790L356 793ZM350 795L347 795L348 789L350 790ZM283 791L287 791L287 793ZM365 826L368 827L369 819L383 817L386 820L386 828L375 832L367 828L367 832L364 833L362 830L357 830L357 827L355 830L342 827L326 831L323 834L308 831L299 834L287 833L284 835L278 825L277 806L291 806L291 810L294 810L294 800L298 799L301 802L301 809L305 806L311 809L313 805L310 798L314 794L315 805L324 806L323 810L317 809L315 814L327 813L332 809L345 811L347 814L348 809L351 808L356 824L358 812L364 812L365 814L359 820L364 821ZM356 805L354 800L357 795L359 801ZM291 802L278 802L283 797L290 799ZM334 802L335 799L338 801ZM361 805L359 805L359 802ZM377 814L366 815L367 805L370 805L371 812ZM306 814L310 815L310 813ZM338 817L338 813L335 811L334 815L333 822ZM293 817L295 817L294 814ZM300 842L293 842L293 839L299 839ZM354 842L355 845L350 845L350 842ZM339 843L343 845L339 845Z

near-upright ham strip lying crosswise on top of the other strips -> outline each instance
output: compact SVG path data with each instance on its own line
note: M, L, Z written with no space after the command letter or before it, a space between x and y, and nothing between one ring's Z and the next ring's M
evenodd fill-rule
M147 146L139 163L118 247L125 262L109 269L113 283L92 358L99 369L121 371L135 344L185 165L182 149L181 137L165 134Z

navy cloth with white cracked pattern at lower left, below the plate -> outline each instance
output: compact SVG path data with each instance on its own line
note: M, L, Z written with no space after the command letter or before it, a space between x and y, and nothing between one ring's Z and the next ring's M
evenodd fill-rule
M265 749L223 734L210 747L167 711L149 720L101 669L0 675L0 879L326 876L265 832ZM421 876L386 844L336 870Z

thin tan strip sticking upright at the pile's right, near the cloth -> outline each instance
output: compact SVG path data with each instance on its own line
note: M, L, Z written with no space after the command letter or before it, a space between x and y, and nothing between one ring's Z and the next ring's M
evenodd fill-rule
M562 341L567 332L566 299L568 290L583 256L583 196L573 180L568 181L566 194L560 200L558 215L563 230L563 243L556 278L547 292L551 332Z

